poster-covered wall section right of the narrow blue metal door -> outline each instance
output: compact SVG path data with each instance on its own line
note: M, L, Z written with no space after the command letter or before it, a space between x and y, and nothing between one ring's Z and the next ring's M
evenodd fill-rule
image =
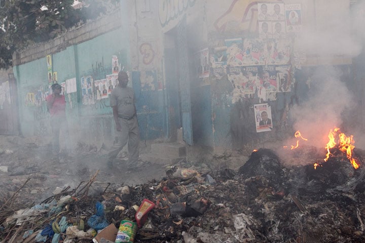
M297 1L295 4L267 1L268 13L274 14L275 4L281 8L281 17L275 19L260 15L262 2L224 0L206 3L213 147L242 148L245 144L292 133L289 109L303 102L310 89L308 80L315 70L306 67L342 65L337 69L346 74L349 68L346 65L351 64L351 51L325 43L332 38L329 29L325 28L340 24L336 20L339 16L333 18L333 14L340 13L340 19L348 18L348 1L336 1L336 6L332 7L326 1ZM341 9L343 11L339 12ZM294 19L290 19L291 14ZM265 36L264 22L269 25L269 33ZM283 31L275 36L278 23ZM314 36L315 41L302 38L300 33ZM264 86L263 73L266 71L272 84L269 88ZM348 82L351 75L345 74L339 78ZM289 86L280 90L280 77L283 76ZM268 104L271 109L275 125L270 130L259 131L260 117L255 121L254 109L254 105L259 104Z

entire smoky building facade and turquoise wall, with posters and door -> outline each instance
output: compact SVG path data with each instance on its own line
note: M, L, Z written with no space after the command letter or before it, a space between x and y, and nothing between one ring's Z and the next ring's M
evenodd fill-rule
M14 55L21 132L50 133L44 98L58 82L72 141L113 139L115 67L129 73L141 139L174 141L181 128L189 145L239 149L299 129L315 137L352 127L344 114L353 107L363 124L364 36L344 26L361 22L354 9L345 0L121 1L114 13ZM334 83L326 89L318 79ZM352 105L336 102L342 94ZM321 96L318 107L310 103ZM260 125L263 111L270 126ZM318 128L323 113L331 122Z

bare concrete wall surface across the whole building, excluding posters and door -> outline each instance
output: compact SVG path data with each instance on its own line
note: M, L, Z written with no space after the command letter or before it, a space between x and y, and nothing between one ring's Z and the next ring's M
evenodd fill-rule
M282 7L292 4L291 1L278 3ZM102 141L113 136L109 99L83 104L81 77L91 75L98 80L110 74L111 56L116 55L121 66L130 73L129 85L133 86L137 97L142 139L176 139L176 130L182 126L178 80L181 75L187 75L190 79L194 143L213 148L242 148L246 144L278 139L290 133L293 124L290 124L288 109L307 98L306 82L312 67L332 64L341 65L340 69L345 70L352 61L346 52L333 54L329 49L320 53L318 49L308 49L306 39L306 42L300 42L298 33L290 32L280 41L270 41L270 45L281 48L284 59L281 56L279 61L265 59L257 63L217 64L214 59L220 50L226 54L227 51L234 52L232 39L242 38L242 45L244 39L262 44L258 2L255 0L128 0L123 4L113 15L14 56L24 134L49 132L45 102L30 106L29 102L25 102L28 93L47 90L45 57L49 54L53 58L52 71L57 71L59 83L72 77L77 79L78 92L66 96L67 117L71 127L79 131L82 138ZM331 16L318 17L323 12L320 10L326 6L325 1L301 0L296 4L300 6L301 31L315 33L327 26L325 23ZM348 9L348 1L339 0L337 7ZM189 73L181 73L181 57L176 51L176 26L184 19L187 23ZM253 48L259 49L259 46L254 46L256 44ZM270 45L265 43L266 50ZM321 46L326 45L321 43ZM205 55L209 59L209 71L201 73L205 50L208 51ZM269 97L268 100L266 92L260 92L261 89L242 94L235 85L240 70L243 74L250 67L257 69L255 75L259 75L264 69L274 70L277 66L288 70L291 86L286 92L277 92L274 99ZM272 107L275 128L270 132L256 131L253 105L261 103Z

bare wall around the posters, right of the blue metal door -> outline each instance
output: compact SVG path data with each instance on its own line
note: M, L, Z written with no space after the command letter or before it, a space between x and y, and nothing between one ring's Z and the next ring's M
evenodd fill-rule
M270 4L275 4L275 2L270 2ZM277 1L277 3L282 4L282 8L284 5L295 8L291 1ZM338 66L340 71L349 68L349 66L343 65L351 64L353 52L336 46L334 41L329 42L329 39L338 39L329 26L332 24L341 26L339 19L343 20L346 16L348 17L349 2L336 1L336 6L332 5L329 11L326 10L329 8L327 1L296 1L295 4L300 8L298 12L301 14L300 31L290 32L288 23L283 19L282 24L286 25L288 31L286 36L280 41L269 38L268 42L263 42L259 35L262 21L258 20L258 1L206 2L207 46L210 56L210 76L206 83L210 86L213 147L242 148L247 144L254 145L260 141L276 140L290 134L293 132L291 131L293 123L290 120L289 108L295 104L301 104L303 100L300 98L305 97L309 91L306 82L311 76L310 73L314 72L314 69L306 67L341 65ZM285 14L284 11L282 13ZM334 13L339 13L336 16L341 16L341 18L333 18ZM315 41L305 37L305 34L311 38L314 36ZM253 63L245 63L245 61L239 63L238 59L242 58L240 54L243 52L235 50L231 45L235 38L242 39L239 45L239 48L242 49L245 48L245 45L248 46L249 42L246 40L251 42L252 46L249 45L253 48L260 49L260 45L267 50L270 45L275 49L281 47L286 52L287 58L286 60L265 59ZM346 37L345 40L343 41L348 41ZM228 54L228 59L230 58L229 53L237 55L231 56L233 59L230 63L217 64L219 50ZM300 57L301 54L302 57ZM258 68L257 74L260 76L260 72L264 69L276 69L282 65L290 68L288 74L291 76L291 89L287 92L275 92L275 97L268 98L260 92L261 88L260 90L255 89L251 94L245 94L242 90L237 89L237 84L243 80L240 79L242 78L240 75L245 73L246 68ZM304 71L302 71L303 68ZM240 72L241 74L239 74ZM343 82L348 82L346 80L348 77L346 76ZM257 133L253 105L262 103L268 103L271 107L275 127L272 131Z

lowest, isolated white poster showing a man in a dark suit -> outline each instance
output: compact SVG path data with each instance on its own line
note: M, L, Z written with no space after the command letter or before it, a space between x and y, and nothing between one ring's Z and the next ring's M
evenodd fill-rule
M273 129L273 121L271 116L271 107L265 104L253 105L255 114L256 132L270 132Z

